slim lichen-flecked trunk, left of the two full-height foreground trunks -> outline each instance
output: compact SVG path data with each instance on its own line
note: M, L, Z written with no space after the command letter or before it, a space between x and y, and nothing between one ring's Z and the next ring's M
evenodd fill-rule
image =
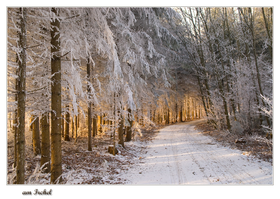
M26 76L26 8L19 8L19 69L17 103L17 184L24 184L24 149L25 149L25 76Z

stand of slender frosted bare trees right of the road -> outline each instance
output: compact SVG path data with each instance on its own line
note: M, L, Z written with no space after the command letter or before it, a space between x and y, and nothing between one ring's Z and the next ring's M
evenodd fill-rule
M177 35L191 60L188 63L195 66L208 121L220 127L226 123L234 132L251 131L253 124L255 128L262 125L261 107L268 104L261 98L260 88L271 94L272 84L265 80L271 73L264 70L272 67L267 56L271 38L264 36L267 24L262 10L177 9L183 25ZM268 118L266 124L269 126Z

